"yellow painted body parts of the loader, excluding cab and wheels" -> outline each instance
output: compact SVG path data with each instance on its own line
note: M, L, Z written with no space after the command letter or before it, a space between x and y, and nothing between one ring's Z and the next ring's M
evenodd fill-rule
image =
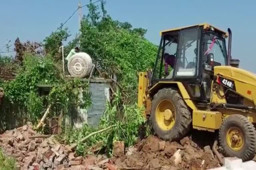
M254 107L256 105L256 75L243 70L241 68L231 66L216 66L214 67L214 75L221 76L234 81L236 87L236 93L242 96L243 105L248 107ZM213 83L216 82L212 82ZM184 99L187 106L192 111L192 125L193 128L199 130L214 131L219 129L222 123L222 119L230 115L240 114L247 117L250 122L256 123L256 113L245 111L242 109L219 109L217 111L200 110L196 103L191 100L187 90L181 82L176 81L159 81L154 86L149 88L149 79L147 72L139 73L139 87L138 87L138 107L145 106L146 115L150 115L151 110L151 93L157 91L163 87L175 87L178 88L182 98ZM224 88L220 86L219 93L224 95ZM226 100L221 98L216 92L211 92L212 102L215 104L225 104Z

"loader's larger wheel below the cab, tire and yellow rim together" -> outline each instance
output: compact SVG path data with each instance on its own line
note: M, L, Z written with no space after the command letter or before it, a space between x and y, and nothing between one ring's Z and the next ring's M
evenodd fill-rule
M191 125L191 113L177 90L159 90L152 101L151 121L154 132L164 140L179 140Z

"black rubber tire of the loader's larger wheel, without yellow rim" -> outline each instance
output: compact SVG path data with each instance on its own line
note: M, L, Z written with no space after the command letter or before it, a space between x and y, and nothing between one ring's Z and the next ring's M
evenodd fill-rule
M173 103L176 112L175 124L173 128L169 130L162 130L158 126L155 116L158 103L164 99L168 99ZM154 99L152 100L151 121L154 132L159 138L163 140L178 141L189 131L192 118L190 111L178 91L172 88L163 88L154 95Z

